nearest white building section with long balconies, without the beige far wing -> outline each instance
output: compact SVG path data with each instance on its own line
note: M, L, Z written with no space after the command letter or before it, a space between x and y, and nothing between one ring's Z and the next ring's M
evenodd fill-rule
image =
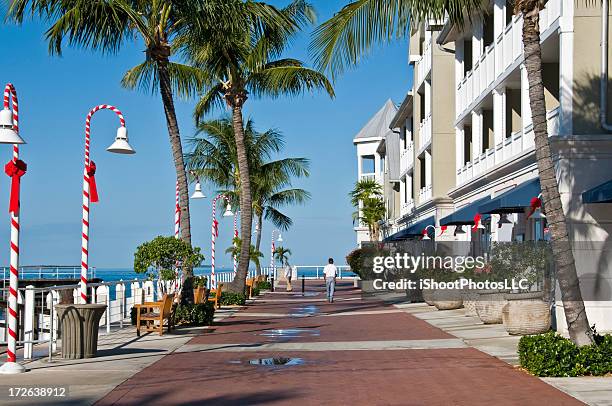
M509 3L494 0L484 17L462 28L447 24L438 37L439 44L453 44L456 50L456 185L448 195L457 212L490 214L493 224L503 224L490 227L493 241L539 240L547 238L545 221L526 215L541 191L522 17L513 15ZM601 101L605 107L612 96L607 89L610 51L606 41L595 40L609 36L607 22L601 6L573 0L549 0L540 12L548 133L587 313L600 329L612 328L611 292L601 289L612 281L612 266L606 265L612 211L601 193L589 191L612 177L612 136L605 124L609 109L601 115L603 123L598 114ZM590 196L602 204L590 203ZM460 217L441 223L471 220ZM558 303L557 320L564 329L562 312Z

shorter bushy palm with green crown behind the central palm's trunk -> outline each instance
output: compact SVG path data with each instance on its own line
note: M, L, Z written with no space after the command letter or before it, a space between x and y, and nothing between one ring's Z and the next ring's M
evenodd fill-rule
M221 193L230 196L232 204L239 201L238 157L234 142L234 128L229 118L202 122L198 125L197 137L190 140L192 152L185 155L188 170L201 179L208 180L222 189ZM292 204L302 204L310 198L304 189L292 188L293 177L309 175L309 161L306 158L268 159L282 150L283 136L276 130L263 133L254 129L251 119L244 129L245 144L251 172L251 193L253 212L259 229L255 248L261 247L263 220L270 221L275 227L286 231L293 220L281 212L281 208ZM257 267L261 274L261 267Z

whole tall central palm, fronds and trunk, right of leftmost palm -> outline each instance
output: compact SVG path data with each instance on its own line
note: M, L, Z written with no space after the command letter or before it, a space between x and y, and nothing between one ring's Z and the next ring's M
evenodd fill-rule
M291 38L314 22L314 11L304 0L295 0L279 10L282 26L239 21L242 27L227 30L212 27L192 31L184 43L191 63L207 73L207 89L196 106L196 122L213 108L226 104L232 112L234 140L240 177L241 238L251 241L252 189L242 109L250 96L277 98L324 89L334 96L331 83L319 71L306 68L297 59L281 58ZM241 292L248 268L248 251L240 254L238 273L231 291Z

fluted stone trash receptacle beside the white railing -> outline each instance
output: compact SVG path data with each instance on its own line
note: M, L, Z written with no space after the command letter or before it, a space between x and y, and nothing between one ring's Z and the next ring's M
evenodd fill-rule
M93 358L98 351L98 326L105 304L55 306L62 337L62 358Z

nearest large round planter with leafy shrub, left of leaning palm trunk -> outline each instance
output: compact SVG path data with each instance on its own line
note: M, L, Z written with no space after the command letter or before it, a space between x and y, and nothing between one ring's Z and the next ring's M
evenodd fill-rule
M502 310L502 320L508 334L530 335L550 329L550 303L547 270L552 264L550 246L546 241L511 244L505 247L505 258L511 261L514 279L522 281L505 295L508 303Z

